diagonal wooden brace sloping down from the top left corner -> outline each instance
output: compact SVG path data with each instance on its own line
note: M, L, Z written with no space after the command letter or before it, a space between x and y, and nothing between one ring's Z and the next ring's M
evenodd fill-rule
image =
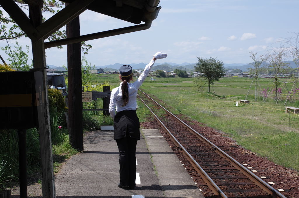
M13 0L1 0L1 7L16 21L20 28L27 34L31 41L37 41L42 35L30 23L28 16Z

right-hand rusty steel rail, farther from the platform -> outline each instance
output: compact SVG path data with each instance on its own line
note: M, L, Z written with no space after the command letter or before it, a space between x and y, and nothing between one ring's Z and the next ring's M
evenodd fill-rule
M139 91L141 91L141 90L139 89ZM147 95L143 91L141 91L141 92L144 95L146 95L150 100L152 100L154 103L156 103L158 106L160 106L162 109L164 109L167 113L169 113L171 116L173 116L176 120L178 120L180 123L182 123L184 126L186 126L189 129L190 132L192 132L193 134L195 134L196 136L198 136L199 139L201 139L205 144L213 147L213 150L216 151L216 153L220 154L221 157L223 157L226 160L228 160L229 162L231 162L231 164L235 168L237 168L237 170L239 170L240 172L242 172L246 177L248 177L252 182L254 182L256 185L258 185L261 189L263 189L267 193L271 194L274 198L278 198L278 197L280 197L280 198L286 198L283 194L281 194L275 188L273 188L272 186L270 186L269 184L267 184L265 181L263 181L262 179L260 179L260 177L257 177L257 175L253 174L245 166L243 166L242 164L240 164L237 160L235 160L230 155L228 155L227 153L225 153L224 151L222 151L221 149L219 149L216 145L214 145L213 143L211 143L208 139L206 139L205 137L203 137L201 134L199 134L194 129L192 129L190 126L188 126L186 123L184 123L182 120L180 120L178 117L176 117L175 115L173 115L170 111L168 111L163 106L161 106L159 103L157 103L155 100L153 100L151 97L149 97L149 95Z

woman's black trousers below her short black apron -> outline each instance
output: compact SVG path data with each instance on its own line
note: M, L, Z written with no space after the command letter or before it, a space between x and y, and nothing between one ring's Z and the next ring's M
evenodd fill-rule
M121 186L136 185L136 145L137 139L126 135L116 140L119 150L119 177Z

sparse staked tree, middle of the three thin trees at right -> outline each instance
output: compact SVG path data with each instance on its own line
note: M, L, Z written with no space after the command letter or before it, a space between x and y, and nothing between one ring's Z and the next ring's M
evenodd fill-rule
M279 85L278 74L284 72L288 66L288 63L285 62L287 57L288 52L283 47L272 48L267 54L269 68L274 72L275 100L277 100L277 87Z

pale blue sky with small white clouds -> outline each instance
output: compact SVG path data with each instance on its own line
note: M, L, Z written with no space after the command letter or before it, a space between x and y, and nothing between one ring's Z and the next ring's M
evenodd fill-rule
M162 9L149 30L86 41L93 46L88 61L96 66L148 63L162 51L168 57L157 63L195 63L197 56L249 63L249 51L264 54L268 46L278 46L279 39L293 36L289 32L299 32L295 0L161 0L159 5ZM134 24L87 10L80 15L80 25L84 35ZM30 46L30 40L19 39L19 44ZM47 49L46 55L49 65L67 64L66 46Z

